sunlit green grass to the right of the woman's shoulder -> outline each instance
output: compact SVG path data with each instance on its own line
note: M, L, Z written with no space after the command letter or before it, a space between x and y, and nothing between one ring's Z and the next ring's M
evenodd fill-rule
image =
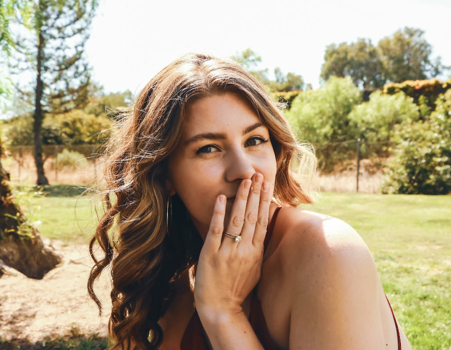
M323 193L305 208L360 233L412 348L451 347L451 196Z

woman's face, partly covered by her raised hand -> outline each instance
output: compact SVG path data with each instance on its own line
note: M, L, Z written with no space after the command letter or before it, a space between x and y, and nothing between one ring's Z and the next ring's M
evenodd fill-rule
M219 194L228 198L227 224L244 178L260 172L274 184L276 156L269 136L249 102L237 93L216 93L188 104L181 138L169 157L168 185L203 239Z

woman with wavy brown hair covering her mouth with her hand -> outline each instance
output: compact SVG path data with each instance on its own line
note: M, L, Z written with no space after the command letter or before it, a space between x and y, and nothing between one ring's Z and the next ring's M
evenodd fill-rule
M314 154L241 66L172 62L107 154L113 348L410 348L359 235L297 208Z

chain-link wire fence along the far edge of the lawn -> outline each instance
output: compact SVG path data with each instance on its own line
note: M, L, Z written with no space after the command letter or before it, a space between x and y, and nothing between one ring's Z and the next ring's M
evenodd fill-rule
M395 144L348 140L316 147L319 174L315 187L322 191L379 191L383 168ZM9 146L2 159L17 184L36 181L34 147ZM83 184L98 180L101 150L92 144L43 145L44 170L51 183Z

